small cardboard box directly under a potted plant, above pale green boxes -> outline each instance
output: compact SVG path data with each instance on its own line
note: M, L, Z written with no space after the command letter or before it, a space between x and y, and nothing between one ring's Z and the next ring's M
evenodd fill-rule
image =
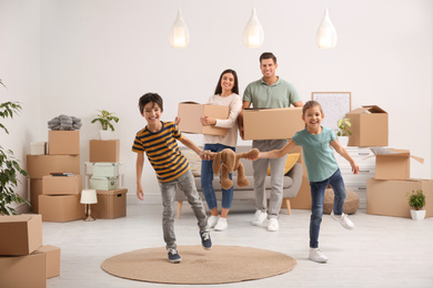
M119 140L91 140L90 162L119 162Z

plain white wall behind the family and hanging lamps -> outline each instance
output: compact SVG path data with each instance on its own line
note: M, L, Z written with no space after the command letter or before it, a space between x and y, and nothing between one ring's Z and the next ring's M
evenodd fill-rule
M353 109L376 104L387 111L390 146L410 148L427 160L423 165L412 163L412 177L432 176L433 8L429 0L328 1L339 34L332 50L315 44L325 8L322 0L0 0L1 6L20 13L9 18L11 24L33 30L38 30L39 3L40 38L26 33L34 43L40 41L40 59L33 60L36 66L40 61L40 74L33 71L31 81L41 89L38 100L24 97L26 104L37 109L39 124L32 124L37 131L26 141L12 135L18 140L11 144L26 152L30 141L47 140L47 121L59 114L74 115L83 121L83 163L89 160L89 140L98 137L99 126L90 124L97 110L115 112L121 119L115 136L121 141L130 203L137 202L135 155L130 147L137 131L145 125L138 99L145 92L160 93L165 100L163 119L173 120L180 101L205 102L226 68L236 70L243 91L261 76L259 55L264 51L276 54L278 74L298 88L304 102L311 92L344 91L352 92ZM265 32L260 49L245 48L242 39L253 3ZM169 44L179 4L191 34L185 50ZM28 17L30 7L36 7L36 14ZM0 19L3 14L9 17L0 9ZM7 39L17 44L14 34ZM0 45L0 56L9 60L6 49ZM23 53L32 58L34 51L26 48ZM26 62L19 51L12 58ZM26 74L21 78L19 66L2 66L0 78L7 84L11 76L17 84L29 81ZM30 126L26 125L31 123L29 117L22 115L27 123L13 123L23 125L13 130ZM200 135L189 136L201 144ZM143 183L149 195L159 195L148 164Z

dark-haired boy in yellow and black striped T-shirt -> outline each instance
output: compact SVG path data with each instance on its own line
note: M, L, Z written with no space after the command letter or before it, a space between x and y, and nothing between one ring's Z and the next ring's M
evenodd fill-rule
M154 168L161 189L163 213L162 229L170 263L180 263L174 235L174 193L175 185L185 194L200 227L201 243L204 249L212 247L208 229L208 217L203 203L197 192L194 178L187 158L179 151L177 140L193 150L202 160L210 160L209 155L199 148L192 141L184 137L173 122L160 120L163 111L162 97L157 93L147 93L139 100L141 115L148 125L135 135L132 151L137 154L137 197L144 199L141 185L141 174L144 164L144 152Z

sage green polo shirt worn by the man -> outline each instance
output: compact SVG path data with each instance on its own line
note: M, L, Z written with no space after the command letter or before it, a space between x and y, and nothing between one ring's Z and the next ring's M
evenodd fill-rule
M289 107L301 101L296 89L282 80L269 85L263 78L250 83L243 93L243 101L251 102L255 109Z

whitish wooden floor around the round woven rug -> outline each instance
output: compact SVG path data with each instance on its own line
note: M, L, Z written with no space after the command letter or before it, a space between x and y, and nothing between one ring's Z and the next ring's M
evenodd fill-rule
M309 210L293 209L292 215L282 210L280 230L270 233L250 224L252 207L252 203L234 203L229 228L211 233L213 244L280 251L296 259L296 267L261 280L205 287L433 287L433 218L415 222L359 210L350 216L355 229L346 230L325 215L320 247L329 261L318 264L308 259ZM129 205L127 217L118 219L46 222L42 229L43 244L61 247L60 276L49 279L48 287L187 287L117 278L100 268L111 256L164 246L160 205ZM188 204L175 222L175 233L179 246L200 245Z

